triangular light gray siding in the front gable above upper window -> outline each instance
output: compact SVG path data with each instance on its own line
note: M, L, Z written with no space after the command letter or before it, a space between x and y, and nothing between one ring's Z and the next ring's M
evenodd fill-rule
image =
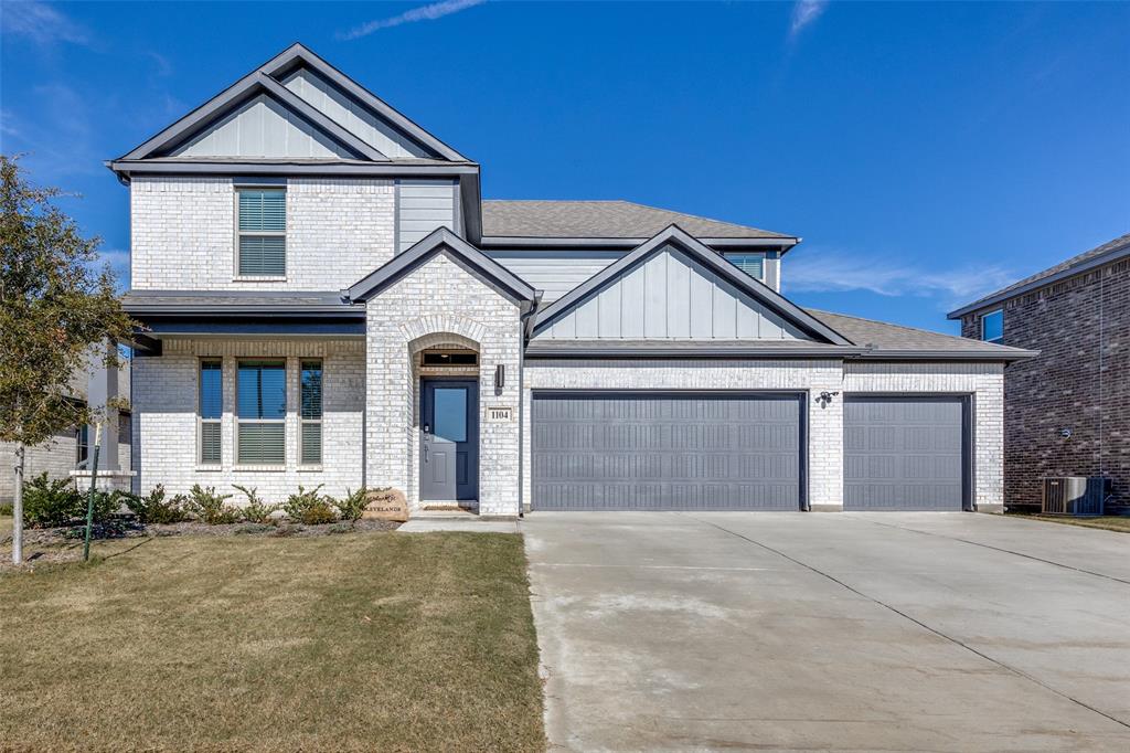
M172 156L354 157L348 149L263 94L174 149Z

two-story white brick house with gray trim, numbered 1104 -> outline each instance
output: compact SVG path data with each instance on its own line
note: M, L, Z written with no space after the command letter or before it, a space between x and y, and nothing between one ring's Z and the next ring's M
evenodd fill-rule
M302 45L108 163L130 189L136 484L414 510L1001 503L1032 354L781 295L800 239L479 165Z

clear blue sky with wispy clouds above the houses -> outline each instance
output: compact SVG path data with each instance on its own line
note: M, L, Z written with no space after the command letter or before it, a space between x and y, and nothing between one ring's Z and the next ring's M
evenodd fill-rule
M1130 231L1130 3L0 5L0 149L128 269L119 156L294 41L486 198L796 233L802 305L945 312Z

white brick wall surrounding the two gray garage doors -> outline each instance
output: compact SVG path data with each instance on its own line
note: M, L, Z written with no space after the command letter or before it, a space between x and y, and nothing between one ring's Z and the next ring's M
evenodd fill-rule
M527 362L523 374L523 500L531 499L531 401L539 389L802 390L808 393L808 495L814 507L843 508L843 396L861 392L970 395L974 413L974 499L1002 500L1003 367L840 361ZM822 391L840 392L823 406Z

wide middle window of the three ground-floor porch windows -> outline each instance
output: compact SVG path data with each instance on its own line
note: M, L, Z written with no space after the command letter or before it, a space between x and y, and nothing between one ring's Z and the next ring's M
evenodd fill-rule
M240 361L236 375L236 462L286 462L286 363Z

